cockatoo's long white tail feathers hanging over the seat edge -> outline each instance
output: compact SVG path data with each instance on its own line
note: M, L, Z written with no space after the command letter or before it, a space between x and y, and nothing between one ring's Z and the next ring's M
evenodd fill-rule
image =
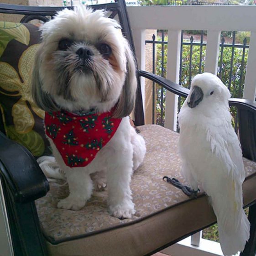
M228 185L228 184L227 184ZM220 246L225 256L243 251L250 236L250 222L242 208L242 187L230 181L225 196L211 197L211 204L217 217Z

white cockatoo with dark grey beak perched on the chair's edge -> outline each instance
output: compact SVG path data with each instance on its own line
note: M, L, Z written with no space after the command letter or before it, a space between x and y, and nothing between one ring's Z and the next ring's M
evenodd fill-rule
M178 115L182 174L193 190L200 186L209 196L225 256L243 251L250 233L242 208L245 170L229 99L217 76L198 74Z

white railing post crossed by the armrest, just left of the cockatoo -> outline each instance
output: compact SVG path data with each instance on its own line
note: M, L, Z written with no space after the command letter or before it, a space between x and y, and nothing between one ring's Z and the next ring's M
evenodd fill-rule
M181 30L168 30L167 79L179 82ZM177 130L178 96L166 92L165 127Z

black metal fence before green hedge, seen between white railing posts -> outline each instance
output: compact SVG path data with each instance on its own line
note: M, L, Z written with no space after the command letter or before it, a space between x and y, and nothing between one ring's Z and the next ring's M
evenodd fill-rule
M190 31L182 31L181 52L180 52L180 73L179 84L190 88L191 80L197 73L204 72L205 50L207 37L206 31L199 31L199 34L190 36ZM196 31L193 31L197 33ZM146 44L152 45L152 71L162 77L166 77L167 64L167 31L157 31L152 36L152 40L147 40ZM241 98L244 88L246 74L246 63L248 48L246 38L243 43L236 43L236 33L223 32L219 49L219 62L217 75L227 85L232 97ZM185 36L185 37L184 37ZM196 40L195 40L196 37ZM225 42L228 41L228 42ZM231 41L231 42L230 42ZM178 99L178 111L183 104L184 99ZM231 109L233 115L233 125L238 130L236 110ZM165 89L157 84L152 84L152 123L164 125L165 117Z

